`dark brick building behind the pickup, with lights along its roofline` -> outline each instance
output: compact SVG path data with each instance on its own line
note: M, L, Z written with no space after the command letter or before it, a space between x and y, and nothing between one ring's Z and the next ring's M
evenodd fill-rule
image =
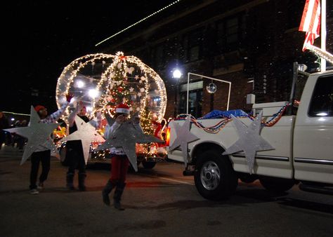
M329 1L327 1L329 2ZM188 72L230 81L229 109L249 111L247 94L256 103L289 99L293 62L315 72L318 57L302 52L299 22L305 0L183 0L103 43L103 53L121 50L155 69L166 84L165 117L186 112ZM327 50L333 52L333 9L327 4ZM315 41L318 46L320 39ZM103 47L102 47L103 46ZM332 67L327 63L327 67ZM172 77L174 69L183 72ZM214 82L217 91L207 93ZM225 110L228 85L190 76L190 114Z

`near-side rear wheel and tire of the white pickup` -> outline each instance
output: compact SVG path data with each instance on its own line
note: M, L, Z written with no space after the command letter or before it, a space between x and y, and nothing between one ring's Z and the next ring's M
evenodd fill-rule
M194 179L200 195L213 201L228 198L237 187L233 166L221 151L204 151L197 157Z

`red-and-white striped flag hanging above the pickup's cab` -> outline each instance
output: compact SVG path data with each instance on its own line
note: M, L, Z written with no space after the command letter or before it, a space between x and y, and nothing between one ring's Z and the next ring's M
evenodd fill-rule
M320 0L306 0L299 31L306 32L303 44L303 51L305 51L306 46L313 45L320 34Z

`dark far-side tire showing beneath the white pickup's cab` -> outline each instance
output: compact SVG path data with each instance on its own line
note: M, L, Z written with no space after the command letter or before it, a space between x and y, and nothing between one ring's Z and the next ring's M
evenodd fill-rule
M278 177L267 177L262 176L259 177L261 185L269 190L269 191L275 191L275 192L283 192L291 189L295 181L294 180L288 180L288 179L282 179Z

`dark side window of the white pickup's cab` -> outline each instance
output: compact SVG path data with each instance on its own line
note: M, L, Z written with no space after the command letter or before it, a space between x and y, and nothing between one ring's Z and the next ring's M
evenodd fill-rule
M308 115L333 116L333 76L322 76L318 79Z

